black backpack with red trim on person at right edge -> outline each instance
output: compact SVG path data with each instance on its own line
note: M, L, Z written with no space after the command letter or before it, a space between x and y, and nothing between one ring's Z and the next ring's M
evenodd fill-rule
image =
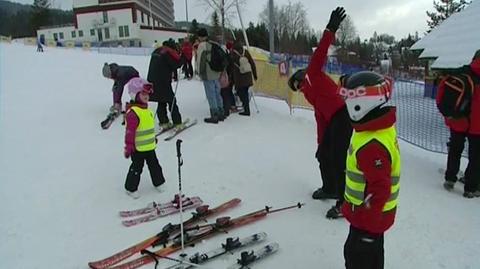
M437 101L440 113L447 118L468 117L475 88L472 77L468 74L448 75L443 84L443 95Z

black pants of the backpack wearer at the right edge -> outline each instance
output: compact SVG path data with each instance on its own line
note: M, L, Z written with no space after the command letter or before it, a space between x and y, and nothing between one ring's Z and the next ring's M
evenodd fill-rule
M480 187L480 135L471 135L450 130L450 141L448 143L447 170L445 180L456 182L460 170L460 160L465 140L468 139L468 165L465 170L464 191L474 192Z

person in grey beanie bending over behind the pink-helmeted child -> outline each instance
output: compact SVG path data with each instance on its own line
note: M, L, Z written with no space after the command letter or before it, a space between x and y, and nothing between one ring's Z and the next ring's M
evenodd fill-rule
M118 116L122 111L123 88L130 79L139 76L138 71L133 66L105 63L102 67L102 74L105 78L113 80L113 105L110 107L110 113Z

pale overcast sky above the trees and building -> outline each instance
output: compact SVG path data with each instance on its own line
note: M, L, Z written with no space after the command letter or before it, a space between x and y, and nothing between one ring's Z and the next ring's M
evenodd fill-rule
M33 0L14 0L21 3L33 3ZM72 0L53 0L55 7L71 9ZM185 20L185 0L173 0L175 4L175 20ZM187 0L188 18L196 18L199 22L210 23L211 11L202 4L205 0ZM233 0L225 0L227 3ZM369 38L374 31L388 33L397 39L414 34L418 31L420 37L427 30L427 15L425 11L433 10L432 0L297 0L303 3L307 10L310 25L315 30L323 30L328 22L330 12L337 6L343 6L351 16L358 34L362 39ZM268 0L246 0L242 8L244 22L257 22L259 13L264 9ZM292 0L291 2L296 2ZM275 5L281 6L288 0L274 0ZM231 18L234 26L239 26L238 16Z

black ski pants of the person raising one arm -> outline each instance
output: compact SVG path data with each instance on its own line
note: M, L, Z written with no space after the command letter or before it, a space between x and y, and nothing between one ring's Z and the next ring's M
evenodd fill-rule
M320 164L322 189L325 193L336 194L339 199L337 204L344 200L345 169L351 137L352 124L344 106L331 119L315 154Z

